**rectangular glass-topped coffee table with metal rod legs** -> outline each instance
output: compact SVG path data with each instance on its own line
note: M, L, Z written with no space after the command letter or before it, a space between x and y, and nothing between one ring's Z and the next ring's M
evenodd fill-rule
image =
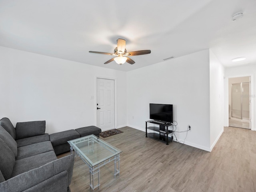
M95 135L89 135L68 141L70 151L80 156L90 169L90 187L94 191L100 188L100 167L114 161L114 177L120 173L120 153L122 150L101 140ZM97 179L98 178L98 182ZM96 180L96 184L94 183Z

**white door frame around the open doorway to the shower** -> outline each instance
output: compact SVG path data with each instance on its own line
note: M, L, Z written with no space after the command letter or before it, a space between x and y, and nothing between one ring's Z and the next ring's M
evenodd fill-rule
M228 118L229 118L229 110L228 110L228 79L229 78L236 78L236 77L250 77L251 79L251 82L250 82L250 89L251 89L251 107L250 107L250 110L251 110L251 130L253 131L256 131L255 127L254 127L254 98L255 98L255 95L254 95L254 74L243 74L243 75L239 75L239 76L225 76L224 78L224 87L225 87L225 94L226 96L224 97L225 100L224 100L224 126L228 126L229 125L229 122L228 122Z

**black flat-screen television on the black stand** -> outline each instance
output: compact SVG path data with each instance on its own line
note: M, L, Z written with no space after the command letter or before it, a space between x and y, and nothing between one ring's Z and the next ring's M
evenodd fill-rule
M172 123L173 107L171 104L149 104L149 118L160 122Z

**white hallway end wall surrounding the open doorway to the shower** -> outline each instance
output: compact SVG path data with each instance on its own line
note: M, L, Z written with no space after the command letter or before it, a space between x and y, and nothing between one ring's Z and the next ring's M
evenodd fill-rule
M252 96L252 100L251 100L251 116L252 116L252 120L251 120L251 129L252 130L256 130L256 124L254 123L254 112L256 111L256 106L255 106L255 102L256 102L256 96L254 94L254 90L256 90L256 79L254 78L254 76L256 75L256 63L252 63L250 65L246 65L246 66L234 66L234 67L229 67L225 69L225 77L226 77L226 84L228 85L228 78L234 78L234 77L243 77L243 76L251 76L251 82L252 82L252 87L251 87L251 96ZM225 96L225 107L228 108L228 89L226 89L225 92L226 96ZM228 123L228 111L225 114L226 117L226 121L225 121L225 125Z

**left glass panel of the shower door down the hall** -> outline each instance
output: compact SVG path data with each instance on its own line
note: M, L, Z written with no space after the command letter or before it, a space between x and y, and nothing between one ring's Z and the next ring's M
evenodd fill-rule
M241 83L232 84L231 100L232 100L232 117L242 119L242 90Z

